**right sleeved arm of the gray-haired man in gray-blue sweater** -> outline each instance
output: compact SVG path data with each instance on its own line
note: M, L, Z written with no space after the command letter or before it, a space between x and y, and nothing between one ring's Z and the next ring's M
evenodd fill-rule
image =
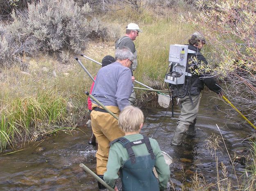
M129 105L129 97L131 96L131 70L125 68L123 72L119 75L116 91L116 102L120 111Z

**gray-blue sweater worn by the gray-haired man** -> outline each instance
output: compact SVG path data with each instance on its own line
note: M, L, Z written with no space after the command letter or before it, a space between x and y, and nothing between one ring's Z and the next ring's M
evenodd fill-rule
M132 86L131 70L116 61L99 70L92 95L104 106L118 106L121 111L129 105Z

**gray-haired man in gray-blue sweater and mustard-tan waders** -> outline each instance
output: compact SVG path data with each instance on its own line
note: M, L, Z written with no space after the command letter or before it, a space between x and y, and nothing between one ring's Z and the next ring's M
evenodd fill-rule
M115 56L116 62L102 67L97 73L92 95L118 116L129 105L128 99L133 86L129 67L134 56L127 47L116 49ZM91 126L98 141L96 172L103 179L109 156L109 143L125 133L118 128L118 121L95 101L92 101ZM100 182L98 186L99 190L105 190Z

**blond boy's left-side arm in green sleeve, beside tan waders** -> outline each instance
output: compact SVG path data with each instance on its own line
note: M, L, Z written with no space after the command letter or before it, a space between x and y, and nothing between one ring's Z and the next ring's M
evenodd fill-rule
M118 144L118 143L116 143ZM115 144L111 145L109 149L109 159L106 165L106 172L104 173L104 181L112 188L115 187L116 179L118 179L118 171L121 166L121 158L118 157Z

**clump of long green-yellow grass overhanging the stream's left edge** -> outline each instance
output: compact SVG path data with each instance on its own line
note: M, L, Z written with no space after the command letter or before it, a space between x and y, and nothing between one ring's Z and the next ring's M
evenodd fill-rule
M36 97L14 99L1 111L0 152L9 144L25 142L32 137L52 131L52 125L65 124L66 99L54 92L41 92ZM40 133L41 132L41 133Z

